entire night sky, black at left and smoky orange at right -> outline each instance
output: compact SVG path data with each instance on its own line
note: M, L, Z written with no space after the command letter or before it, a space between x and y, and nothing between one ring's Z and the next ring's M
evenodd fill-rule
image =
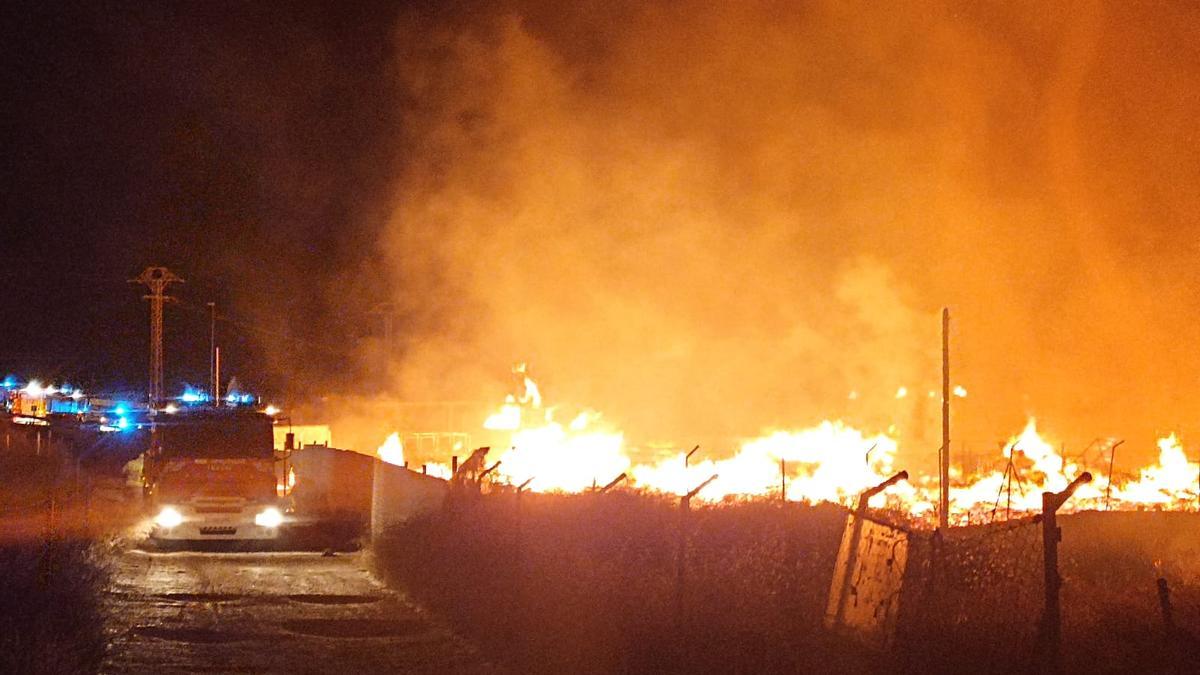
M162 264L168 392L215 301L274 400L527 362L631 437L928 447L948 306L959 437L1200 435L1189 5L42 5L0 10L0 375L144 387Z

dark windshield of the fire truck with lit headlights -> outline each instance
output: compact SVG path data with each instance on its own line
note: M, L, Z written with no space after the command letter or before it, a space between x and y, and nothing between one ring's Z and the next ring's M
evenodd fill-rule
M271 423L260 416L179 419L157 426L160 448L166 458L271 459Z

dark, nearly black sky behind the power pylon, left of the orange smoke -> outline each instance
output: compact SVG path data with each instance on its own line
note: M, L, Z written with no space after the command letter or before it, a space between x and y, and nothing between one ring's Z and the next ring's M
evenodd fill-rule
M142 386L148 310L126 280L163 264L187 281L168 389L206 381L210 300L239 322L220 328L227 375L266 392L288 359L296 387L353 376L338 347L378 321L334 289L374 292L395 7L6 4L0 371Z

